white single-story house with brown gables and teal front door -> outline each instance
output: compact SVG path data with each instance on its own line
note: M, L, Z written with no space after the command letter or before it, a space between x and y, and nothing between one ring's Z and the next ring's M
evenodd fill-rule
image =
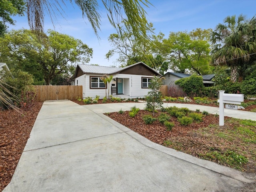
M143 62L124 68L78 64L72 77L72 85L83 86L83 98L95 98L96 95L103 98L106 95L105 84L100 77L104 75L113 76L107 92L110 89L114 97L120 98L144 97L148 94L148 85L153 76L161 76Z

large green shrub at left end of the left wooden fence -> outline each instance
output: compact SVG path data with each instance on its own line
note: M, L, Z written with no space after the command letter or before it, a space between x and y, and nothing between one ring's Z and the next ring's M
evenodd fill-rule
M5 86L8 92L3 91L10 96L12 102L16 102L16 106L22 108L32 106L36 91L32 85L34 80L31 74L21 70L12 71L11 73L5 73L2 79L8 84L8 86Z

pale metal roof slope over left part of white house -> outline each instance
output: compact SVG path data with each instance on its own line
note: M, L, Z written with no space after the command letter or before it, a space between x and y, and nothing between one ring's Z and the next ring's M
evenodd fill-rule
M78 64L78 66L84 73L96 73L96 74L111 74L113 71L120 69L115 67L95 66L95 65L85 65L85 64Z

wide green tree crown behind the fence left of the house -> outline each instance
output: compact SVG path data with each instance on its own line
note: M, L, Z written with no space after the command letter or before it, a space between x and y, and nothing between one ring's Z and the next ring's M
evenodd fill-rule
M71 76L73 63L89 62L92 49L81 40L48 30L44 40L29 30L12 30L0 38L0 54L10 68L24 68L34 76L43 78L47 85L59 74ZM25 67L25 66L29 67Z

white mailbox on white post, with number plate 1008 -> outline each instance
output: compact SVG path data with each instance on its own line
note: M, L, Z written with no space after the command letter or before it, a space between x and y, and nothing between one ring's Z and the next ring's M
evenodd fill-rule
M244 101L243 94L227 94L224 90L219 90L220 99L218 99L220 113L219 113L219 125L224 125L224 103L229 104L241 104Z

